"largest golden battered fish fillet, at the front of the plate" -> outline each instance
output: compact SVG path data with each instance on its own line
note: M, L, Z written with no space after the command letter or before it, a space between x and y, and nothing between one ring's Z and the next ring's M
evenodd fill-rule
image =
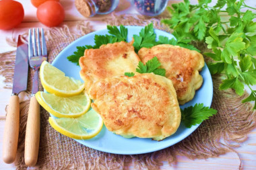
M181 110L166 77L145 73L102 79L89 94L92 108L115 134L162 140L179 128Z

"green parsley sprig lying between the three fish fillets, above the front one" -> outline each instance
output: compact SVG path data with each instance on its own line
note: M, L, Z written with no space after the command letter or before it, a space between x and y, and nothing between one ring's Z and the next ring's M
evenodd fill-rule
M151 60L148 60L146 62L146 65L143 65L143 62L139 61L139 64L137 66L136 72L137 73L154 73L155 75L162 75L165 77L166 70L159 68L161 66L160 61L155 56ZM133 77L135 73L125 73L128 77Z

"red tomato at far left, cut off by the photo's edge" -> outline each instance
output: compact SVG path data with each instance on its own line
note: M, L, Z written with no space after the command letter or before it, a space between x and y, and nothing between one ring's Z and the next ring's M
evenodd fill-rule
M21 3L12 0L0 1L0 29L9 30L18 26L24 18Z

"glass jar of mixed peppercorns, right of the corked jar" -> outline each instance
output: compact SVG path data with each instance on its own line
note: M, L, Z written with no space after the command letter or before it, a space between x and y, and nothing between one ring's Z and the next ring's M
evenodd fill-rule
M131 0L131 4L142 15L156 16L164 11L168 0Z

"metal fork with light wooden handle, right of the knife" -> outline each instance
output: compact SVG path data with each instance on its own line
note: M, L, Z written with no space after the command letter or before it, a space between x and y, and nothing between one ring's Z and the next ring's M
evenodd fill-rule
M36 35L37 34L37 35ZM39 29L33 28L33 39L31 29L28 33L28 57L30 67L34 69L34 78L32 85L32 97L30 99L30 107L28 110L28 120L26 127L26 138L25 138L25 163L27 166L36 165L38 158L38 148L40 139L40 105L36 101L35 94L38 92L38 71L44 60L47 60L46 42L44 38L44 30L41 29L41 41L40 45L40 34Z

